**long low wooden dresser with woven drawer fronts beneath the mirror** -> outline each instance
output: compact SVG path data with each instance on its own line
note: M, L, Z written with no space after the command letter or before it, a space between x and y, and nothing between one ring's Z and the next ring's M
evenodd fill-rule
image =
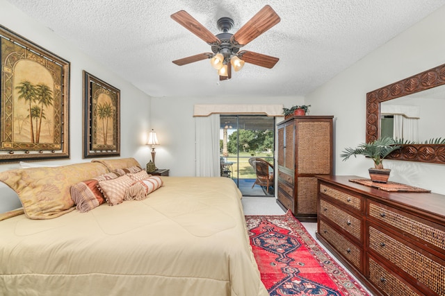
M317 238L376 295L445 295L445 195L318 176Z

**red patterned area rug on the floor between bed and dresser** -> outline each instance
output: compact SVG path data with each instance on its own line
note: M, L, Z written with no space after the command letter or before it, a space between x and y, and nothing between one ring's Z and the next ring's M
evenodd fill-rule
M288 211L245 216L261 280L275 295L369 295Z

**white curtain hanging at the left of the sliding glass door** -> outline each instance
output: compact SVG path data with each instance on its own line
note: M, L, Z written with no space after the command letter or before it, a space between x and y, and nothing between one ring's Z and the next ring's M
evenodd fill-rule
M220 176L220 115L195 117L196 176Z

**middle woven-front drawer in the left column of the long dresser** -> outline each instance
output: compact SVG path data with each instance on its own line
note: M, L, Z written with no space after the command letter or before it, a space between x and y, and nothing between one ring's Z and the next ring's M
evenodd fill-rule
M339 225L346 232L352 234L359 241L362 241L362 221L351 216L346 211L335 207L326 200L320 200L320 212L333 223Z

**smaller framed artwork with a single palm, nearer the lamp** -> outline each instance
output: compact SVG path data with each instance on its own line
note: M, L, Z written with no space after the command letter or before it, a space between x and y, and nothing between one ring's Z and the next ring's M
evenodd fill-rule
M83 158L120 156L120 90L83 71Z

